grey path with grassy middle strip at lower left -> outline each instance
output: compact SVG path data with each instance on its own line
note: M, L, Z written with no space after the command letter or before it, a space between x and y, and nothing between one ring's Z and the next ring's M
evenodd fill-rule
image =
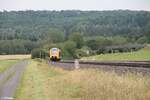
M0 100L12 100L27 61L22 61L0 74Z

